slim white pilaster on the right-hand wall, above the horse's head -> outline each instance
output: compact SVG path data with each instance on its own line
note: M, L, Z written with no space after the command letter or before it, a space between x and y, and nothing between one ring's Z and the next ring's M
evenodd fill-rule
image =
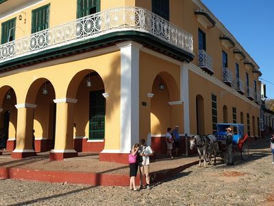
M189 91L188 91L188 67L187 63L181 65L180 71L180 98L184 102L184 133L190 135L190 119L189 119Z

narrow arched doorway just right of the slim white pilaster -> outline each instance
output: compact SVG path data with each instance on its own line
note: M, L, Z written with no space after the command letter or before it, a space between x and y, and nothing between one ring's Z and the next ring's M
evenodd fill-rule
M205 117L204 117L204 106L203 106L203 96L196 96L196 125L197 134L203 135L205 133Z

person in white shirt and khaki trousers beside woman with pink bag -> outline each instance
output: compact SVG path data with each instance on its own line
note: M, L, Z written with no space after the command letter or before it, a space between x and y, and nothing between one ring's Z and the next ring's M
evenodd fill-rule
M140 163L140 190L151 189L150 187L150 177L149 177L149 157L153 155L153 151L150 146L147 146L145 139L140 140L140 155L142 157L142 162ZM145 175L147 185L142 186L142 178Z

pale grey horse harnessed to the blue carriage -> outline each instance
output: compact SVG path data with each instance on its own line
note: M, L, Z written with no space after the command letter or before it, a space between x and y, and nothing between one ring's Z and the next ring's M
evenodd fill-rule
M208 164L211 163L211 157L214 155L214 165L216 164L216 154L219 152L217 139L214 135L195 135L190 137L190 150L197 148L199 153L199 166L201 166L201 154L203 153L203 165L206 167L206 159Z

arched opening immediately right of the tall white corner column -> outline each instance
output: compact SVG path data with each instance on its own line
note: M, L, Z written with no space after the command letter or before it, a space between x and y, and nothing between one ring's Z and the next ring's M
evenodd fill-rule
M160 85L164 87L160 88ZM166 133L166 128L175 124L182 124L176 115L179 108L170 106L169 102L179 100L179 87L170 73L162 71L158 73L152 84L150 130L151 134Z

